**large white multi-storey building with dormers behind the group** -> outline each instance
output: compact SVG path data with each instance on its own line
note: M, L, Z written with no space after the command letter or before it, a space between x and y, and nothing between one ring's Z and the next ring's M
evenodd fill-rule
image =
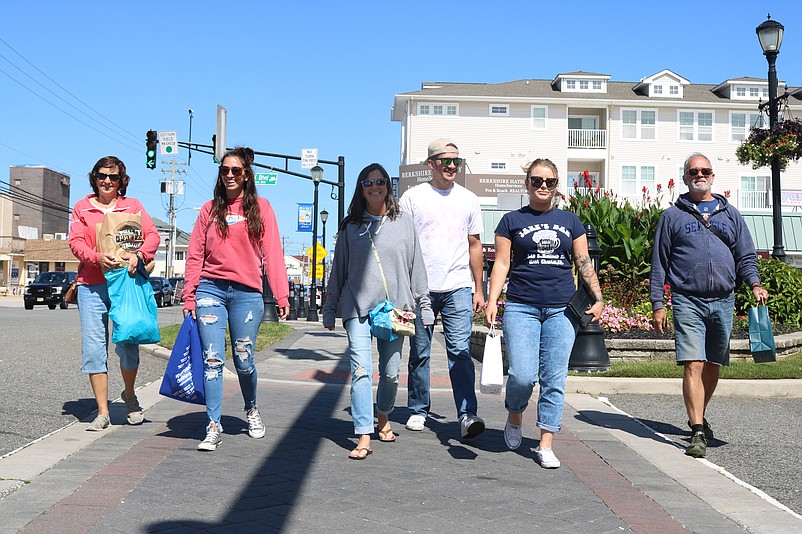
M786 89L785 111L802 117L802 89L780 81L778 94ZM500 192L524 193L521 168L539 157L557 165L564 194L575 182L584 185L580 174L588 170L595 186L634 204L642 202L643 188L655 198L657 186L665 192L671 179L676 196L687 191L682 183L686 157L701 152L713 164L715 192L728 192L742 212L770 218L770 169L753 170L735 157L750 126L768 127L768 117L758 111L767 100L766 79L695 84L670 70L638 82L615 82L592 72L499 84L425 82L418 91L395 95L392 120L401 122L399 193L414 185L404 183L404 166L423 162L429 143L439 137L459 147L466 158L465 185L483 206L495 206ZM790 163L782 173L782 192L783 211L791 215L802 205L802 164ZM663 201L668 200L664 194ZM483 242L492 243L492 229L488 237ZM802 250L795 235L785 241L787 251ZM758 249L766 250L763 245Z

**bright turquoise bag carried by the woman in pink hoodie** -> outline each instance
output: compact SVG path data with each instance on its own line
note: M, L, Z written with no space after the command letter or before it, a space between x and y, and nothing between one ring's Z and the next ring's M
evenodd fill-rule
M139 344L161 341L156 299L148 279L139 273L132 278L125 267L108 271L105 276L111 300L109 317L114 323L111 341Z

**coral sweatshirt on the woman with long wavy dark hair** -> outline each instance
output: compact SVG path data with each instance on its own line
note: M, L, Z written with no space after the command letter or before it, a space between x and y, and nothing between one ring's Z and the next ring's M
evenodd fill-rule
M258 197L262 216L261 248L270 288L279 307L289 306L289 283L284 266L284 251L276 214L267 199ZM206 202L198 214L184 273L184 309L195 309L195 290L201 278L230 280L262 291L262 269L259 247L248 236L248 224L242 211L242 198L228 202L228 236L224 239L211 220L212 201ZM211 226L210 226L211 224Z

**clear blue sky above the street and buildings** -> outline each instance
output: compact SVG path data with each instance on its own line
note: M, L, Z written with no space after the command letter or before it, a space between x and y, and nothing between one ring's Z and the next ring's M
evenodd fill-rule
M501 83L560 72L637 81L671 69L693 83L765 77L755 27L766 13L785 26L781 80L802 85L798 2L464 1L407 2L14 2L0 29L0 166L46 165L72 176L74 203L89 191L98 158L120 157L129 195L166 219L158 169L145 168L145 132L176 130L209 144L215 106L228 110L228 146L300 156L345 156L346 206L356 175L377 161L397 174L397 93L423 81ZM34 7L35 6L35 7ZM224 9L220 9L225 6ZM451 6L451 7L446 7ZM186 160L181 150L178 159ZM265 164L283 162L257 159ZM301 171L293 163L292 170ZM190 230L211 197L216 166L193 154L179 227ZM2 171L3 181L8 180ZM336 170L326 168L326 179ZM260 194L274 205L288 253L298 202L311 182L280 175ZM321 209L337 203L321 186Z

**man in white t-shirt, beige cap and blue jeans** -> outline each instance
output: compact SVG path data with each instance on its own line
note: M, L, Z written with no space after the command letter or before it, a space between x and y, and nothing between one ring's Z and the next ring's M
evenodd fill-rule
M432 311L443 321L460 432L463 438L472 438L485 429L485 422L476 415L476 371L470 353L473 312L485 305L479 239L482 212L476 195L454 183L462 164L457 145L449 139L432 141L426 161L432 169L432 181L409 189L399 204L401 211L412 214L415 220ZM416 320L409 351L409 430L423 430L431 408L429 354L433 331L434 326L427 328L420 318Z

